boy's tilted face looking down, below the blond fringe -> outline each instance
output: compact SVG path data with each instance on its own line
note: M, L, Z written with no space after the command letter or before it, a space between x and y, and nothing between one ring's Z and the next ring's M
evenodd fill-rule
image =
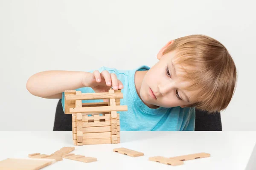
M172 64L174 56L174 52L163 56L157 55L160 60L145 74L140 88L140 96L144 102L150 104L151 108L155 108L155 106L186 107L194 101L191 96L195 92L182 90L182 87L188 86L189 82L182 81L177 77L181 72L177 66Z

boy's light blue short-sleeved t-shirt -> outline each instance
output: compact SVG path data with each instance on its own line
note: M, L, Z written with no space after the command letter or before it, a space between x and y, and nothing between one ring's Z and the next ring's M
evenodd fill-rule
M120 105L127 105L128 111L119 111L120 130L168 130L168 131L192 131L195 130L195 108L149 108L143 103L137 94L134 84L135 71L149 70L150 67L143 65L134 70L117 70L115 68L101 67L99 72L107 70L109 73L115 73L123 86L121 92L123 98L120 99ZM94 70L93 70L94 71ZM87 71L87 72L93 72ZM76 91L82 93L95 93L92 88L78 88ZM62 93L62 107L64 111L64 92ZM82 102L103 102L98 100L82 100Z

